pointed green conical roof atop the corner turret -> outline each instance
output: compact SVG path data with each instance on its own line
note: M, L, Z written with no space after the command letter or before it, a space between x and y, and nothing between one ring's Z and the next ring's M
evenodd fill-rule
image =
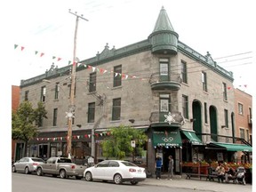
M174 29L172 28L172 23L169 20L169 17L164 9L164 6L162 7L162 9L158 15L153 33L156 31L162 31L162 30L174 31Z

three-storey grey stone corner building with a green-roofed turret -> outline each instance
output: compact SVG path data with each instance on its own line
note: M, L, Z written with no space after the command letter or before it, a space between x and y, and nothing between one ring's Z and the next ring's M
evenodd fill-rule
M48 111L39 136L30 141L28 156L66 155L70 68L52 64L43 75L21 81L20 101L36 106L41 100ZM209 52L202 55L180 42L164 7L145 40L120 49L107 44L77 64L75 104L76 162L91 155L92 145L96 163L104 159L100 140L119 125L147 132L140 160L149 172L154 172L156 155L163 157L163 171L172 155L174 171L180 173L182 161L217 160L216 152L207 149L212 141L234 142L232 72L220 68ZM232 154L223 158L229 160Z

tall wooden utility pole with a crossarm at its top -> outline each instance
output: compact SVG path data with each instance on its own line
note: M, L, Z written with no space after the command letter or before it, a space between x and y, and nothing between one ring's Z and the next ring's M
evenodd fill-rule
M71 157L71 144L72 144L72 119L75 117L75 86L76 86L76 35L77 35L77 28L78 28L78 20L86 20L83 15L77 15L76 12L71 12L69 9L69 13L76 16L76 28L75 28L75 36L74 36L74 52L73 52L73 66L72 66L72 73L71 73L71 92L70 92L70 104L68 106L68 141L67 141L67 156ZM89 21L89 20L86 20Z

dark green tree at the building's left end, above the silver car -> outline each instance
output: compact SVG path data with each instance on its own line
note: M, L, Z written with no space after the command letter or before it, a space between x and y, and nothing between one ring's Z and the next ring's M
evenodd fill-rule
M47 112L43 103L39 102L37 108L25 100L20 103L16 112L12 112L12 140L22 140L25 143L25 154L27 154L28 141L37 136L36 126L40 118L47 118Z

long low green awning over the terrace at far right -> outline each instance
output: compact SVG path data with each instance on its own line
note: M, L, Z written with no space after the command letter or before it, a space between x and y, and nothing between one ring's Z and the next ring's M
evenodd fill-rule
M244 145L244 144L210 142L208 145L209 145L209 147L223 148L228 151L252 152L252 147Z

